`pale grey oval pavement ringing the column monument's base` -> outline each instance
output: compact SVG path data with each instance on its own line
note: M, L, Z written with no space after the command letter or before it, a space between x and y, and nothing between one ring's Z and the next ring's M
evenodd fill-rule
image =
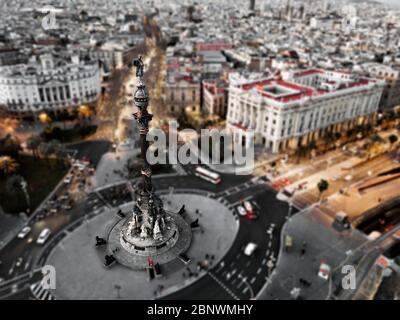
M210 257L214 255L213 260L208 259L211 265L217 264L230 249L238 232L238 221L231 210L205 196L173 194L164 197L167 210L177 211L185 204L188 220L199 218L201 228L193 230L192 243L187 251L192 259L189 266L179 260L168 263L162 266L164 276L150 282L145 271L133 271L118 264L107 270L103 266L102 249L94 246L95 236L105 237L107 228L117 221L115 210L107 210L89 222L83 222L50 253L46 263L54 265L57 273L54 296L57 299L79 300L154 299L199 279L204 273L197 271L197 263L204 261L206 254ZM132 205L125 205L123 210L127 211ZM196 209L199 209L198 214ZM186 267L197 276L189 278Z

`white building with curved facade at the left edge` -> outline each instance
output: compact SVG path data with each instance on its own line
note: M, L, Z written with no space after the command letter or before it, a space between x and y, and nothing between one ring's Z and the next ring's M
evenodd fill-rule
M55 61L52 55L40 63L0 68L0 104L17 114L70 109L95 102L101 92L97 63Z

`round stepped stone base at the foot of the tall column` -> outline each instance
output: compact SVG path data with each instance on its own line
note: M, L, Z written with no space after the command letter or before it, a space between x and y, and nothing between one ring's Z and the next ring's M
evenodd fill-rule
M130 219L127 217L115 224L107 241L108 254L113 254L126 267L143 270L149 265L149 258L154 263L165 264L177 259L190 246L192 230L179 214L167 214L165 231L157 240L127 234Z

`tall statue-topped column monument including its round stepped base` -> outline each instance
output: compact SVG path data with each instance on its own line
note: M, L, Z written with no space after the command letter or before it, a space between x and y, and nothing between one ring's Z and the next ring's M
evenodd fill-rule
M181 212L167 212L155 193L151 166L146 158L147 134L153 116L147 110L149 95L143 80L142 58L134 60L133 66L137 77L133 116L139 126L141 181L135 188L133 209L107 232L107 251L122 265L145 269L153 263L165 264L182 256L190 246L192 232Z

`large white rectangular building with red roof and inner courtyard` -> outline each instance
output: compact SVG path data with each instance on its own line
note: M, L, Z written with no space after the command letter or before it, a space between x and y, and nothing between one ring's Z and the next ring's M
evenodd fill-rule
M227 127L236 142L272 152L296 149L326 132L367 121L379 106L384 82L313 69L249 81L230 75Z

